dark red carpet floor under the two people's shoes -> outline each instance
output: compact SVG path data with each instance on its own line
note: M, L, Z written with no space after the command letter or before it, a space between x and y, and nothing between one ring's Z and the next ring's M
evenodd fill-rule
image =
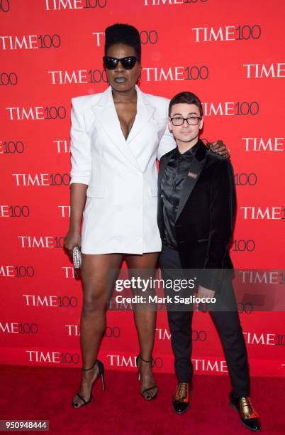
M0 371L0 419L49 420L51 434L253 434L229 407L225 376L196 375L191 409L179 416L170 400L174 375L156 374L160 393L147 402L138 394L134 372L108 371L106 391L98 380L92 402L73 409L78 369L0 365ZM262 434L285 434L284 380L252 378L251 397L262 417Z

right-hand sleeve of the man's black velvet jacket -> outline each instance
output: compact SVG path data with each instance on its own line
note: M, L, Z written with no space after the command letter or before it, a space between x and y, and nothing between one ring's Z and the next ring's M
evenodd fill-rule
M218 290L223 277L223 261L233 235L236 213L236 193L233 166L228 160L220 161L211 184L211 226L201 284ZM206 278L206 279L205 279Z

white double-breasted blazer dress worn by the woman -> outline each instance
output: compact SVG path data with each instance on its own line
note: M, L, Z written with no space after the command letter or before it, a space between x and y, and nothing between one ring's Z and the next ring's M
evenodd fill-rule
M135 86L137 114L125 140L111 86L72 98L71 183L88 185L82 252L157 252L157 158L176 146L167 127L169 100Z

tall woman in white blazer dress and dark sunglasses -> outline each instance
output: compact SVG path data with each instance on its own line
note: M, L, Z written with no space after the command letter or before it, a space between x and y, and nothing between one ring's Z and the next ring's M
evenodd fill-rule
M107 28L105 55L108 89L72 98L71 218L65 247L82 249L84 287L83 372L74 407L89 403L95 380L99 375L104 378L104 365L96 358L106 328L108 273L119 269L123 259L129 269L157 265L162 244L156 161L176 146L167 129L169 100L145 94L136 85L141 70L137 29L124 24ZM155 315L134 311L140 391L145 399L157 396L151 364Z

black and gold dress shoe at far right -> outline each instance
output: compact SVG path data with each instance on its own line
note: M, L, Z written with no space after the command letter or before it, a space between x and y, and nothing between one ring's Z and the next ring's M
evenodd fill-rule
M239 399L230 393L230 406L236 409L240 414L240 421L242 424L251 431L260 432L260 417L259 414L252 407L250 397L242 396Z

